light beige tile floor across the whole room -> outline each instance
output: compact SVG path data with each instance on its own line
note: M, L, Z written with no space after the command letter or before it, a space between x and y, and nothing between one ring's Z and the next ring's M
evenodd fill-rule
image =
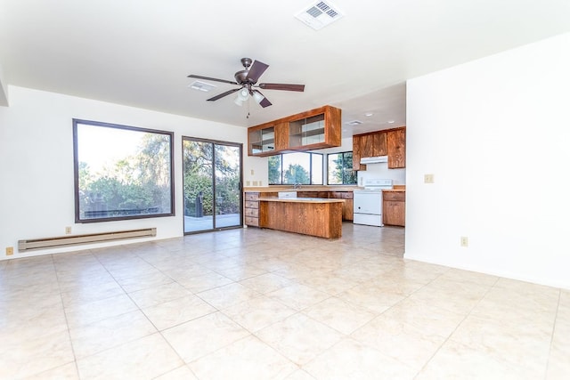
M570 291L403 260L403 232L0 262L0 378L570 378Z

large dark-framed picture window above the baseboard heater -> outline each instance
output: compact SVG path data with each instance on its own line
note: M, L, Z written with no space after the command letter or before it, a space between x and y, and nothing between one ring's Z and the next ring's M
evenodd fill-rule
M174 215L173 136L73 119L76 222Z

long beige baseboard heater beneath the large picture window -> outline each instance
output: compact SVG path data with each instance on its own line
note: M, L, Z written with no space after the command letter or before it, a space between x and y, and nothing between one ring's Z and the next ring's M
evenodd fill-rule
M157 236L156 228L142 230L118 230L112 232L89 233L84 235L69 235L55 238L18 240L18 250L29 251L55 247L77 246L80 244L100 243L120 239L150 238Z

